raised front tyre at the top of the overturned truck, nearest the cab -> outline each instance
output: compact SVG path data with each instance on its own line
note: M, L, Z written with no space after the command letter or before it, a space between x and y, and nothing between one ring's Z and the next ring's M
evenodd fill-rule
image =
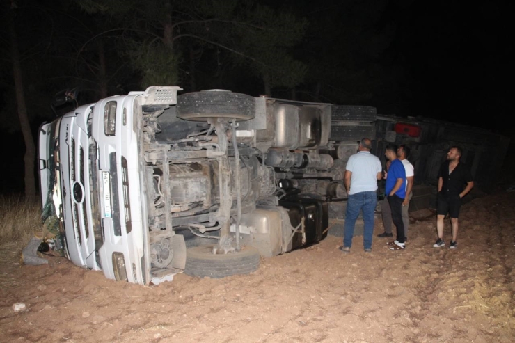
M229 90L204 90L177 95L177 117L205 121L207 118L255 118L255 99Z

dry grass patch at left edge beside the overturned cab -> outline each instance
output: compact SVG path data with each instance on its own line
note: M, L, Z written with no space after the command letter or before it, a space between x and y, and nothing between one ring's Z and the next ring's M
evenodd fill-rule
M0 196L1 246L9 245L21 252L34 234L41 236L39 200L26 200L22 195Z

